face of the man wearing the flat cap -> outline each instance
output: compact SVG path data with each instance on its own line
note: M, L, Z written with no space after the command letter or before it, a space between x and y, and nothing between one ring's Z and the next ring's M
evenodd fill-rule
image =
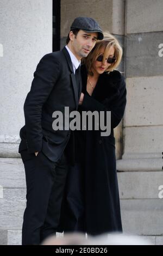
M77 59L87 57L92 48L96 44L98 33L87 33L83 30L80 30L75 36L70 32L71 39L71 51Z

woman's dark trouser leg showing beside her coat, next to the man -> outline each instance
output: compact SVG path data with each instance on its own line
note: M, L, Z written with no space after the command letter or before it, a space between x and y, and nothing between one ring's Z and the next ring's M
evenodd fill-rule
M64 233L85 233L85 175L82 163L76 162L74 166L68 167L61 223Z

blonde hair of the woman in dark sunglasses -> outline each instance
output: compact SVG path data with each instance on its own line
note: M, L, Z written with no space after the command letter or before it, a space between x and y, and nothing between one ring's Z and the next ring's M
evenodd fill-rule
M118 42L118 40L115 38L115 36L111 35L109 32L104 32L103 34L104 34L103 40L97 40L96 45L93 48L93 50L83 60L85 66L86 66L87 72L91 76L93 76L93 72L91 71L92 63L96 61L97 57L99 56L99 52L100 52L101 48L105 47L105 51L103 54L103 62L106 58L109 48L111 46L113 46L115 49L114 57L116 58L116 62L112 63L108 67L108 69L105 70L105 72L110 72L110 71L113 71L114 69L116 69L122 59L122 53L123 53L122 47L121 47L120 43Z

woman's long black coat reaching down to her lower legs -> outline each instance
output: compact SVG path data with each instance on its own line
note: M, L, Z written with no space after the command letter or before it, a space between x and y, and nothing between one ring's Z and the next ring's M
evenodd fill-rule
M74 132L76 164L67 176L59 230L92 235L122 231L113 129L126 107L126 83L119 71L104 73L90 96L85 66L81 71L85 95L79 111L111 111L111 133L104 137L101 131Z

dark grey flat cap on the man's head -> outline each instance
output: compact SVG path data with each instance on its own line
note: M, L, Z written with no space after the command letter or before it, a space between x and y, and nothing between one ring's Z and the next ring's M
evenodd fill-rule
M88 17L77 17L72 22L70 29L82 29L83 31L93 33L98 32L98 40L102 40L104 38L101 27L99 27L98 23L92 18Z

